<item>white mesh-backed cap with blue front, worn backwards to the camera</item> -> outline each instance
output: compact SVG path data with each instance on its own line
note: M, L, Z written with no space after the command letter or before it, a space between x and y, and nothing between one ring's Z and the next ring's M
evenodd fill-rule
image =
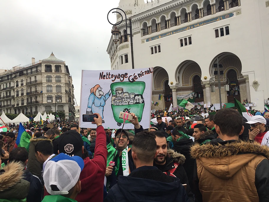
M47 192L50 195L68 194L78 182L79 175L84 167L84 161L79 156L70 157L60 153L50 159L44 169L43 179ZM56 185L59 191L52 190Z

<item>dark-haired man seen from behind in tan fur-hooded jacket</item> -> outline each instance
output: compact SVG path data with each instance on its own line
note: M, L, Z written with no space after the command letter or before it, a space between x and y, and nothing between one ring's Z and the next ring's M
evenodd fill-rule
M214 122L219 138L191 148L196 200L269 201L269 148L239 141L244 126L234 109L219 110Z

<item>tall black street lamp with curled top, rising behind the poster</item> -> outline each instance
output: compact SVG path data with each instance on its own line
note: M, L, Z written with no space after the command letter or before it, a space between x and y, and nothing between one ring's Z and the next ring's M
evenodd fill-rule
M126 32L127 32L127 35L129 35L130 36L130 41L131 41L131 57L132 57L132 69L135 69L135 65L134 65L134 49L133 49L133 33L132 33L132 19L131 18L129 18L129 26L127 26L127 16L126 16L126 13L122 10L122 9L120 9L120 8L114 8L114 9L111 9L109 12L108 12L108 14L107 14L107 21L111 24L111 25L113 25L113 26L115 26L114 27L114 30L112 30L111 31L111 34L112 35L114 35L114 43L115 44L117 44L117 42L119 41L118 39L117 39L117 36L119 35L119 30L117 30L117 25L120 25L121 23L122 23L122 21L123 21L123 16L122 16L122 14L120 13L120 12L118 12L118 11L113 11L112 13L118 13L121 17L122 17L122 19L119 21L119 22L117 22L117 23L115 23L115 24L113 24L113 23L111 23L110 21L109 21L109 19L108 19L108 15L109 15L109 13L112 11L112 10L121 10L123 13L124 13L124 15L125 15L125 26L126 26ZM129 30L130 30L130 34L128 34L128 31L127 31L127 28L129 28Z

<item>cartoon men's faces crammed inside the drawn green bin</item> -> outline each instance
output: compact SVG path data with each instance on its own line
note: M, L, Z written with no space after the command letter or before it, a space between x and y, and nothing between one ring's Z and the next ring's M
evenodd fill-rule
M145 103L143 95L141 94L124 92L123 88L121 87L116 88L115 92L116 95L113 95L111 98L112 105L133 105Z

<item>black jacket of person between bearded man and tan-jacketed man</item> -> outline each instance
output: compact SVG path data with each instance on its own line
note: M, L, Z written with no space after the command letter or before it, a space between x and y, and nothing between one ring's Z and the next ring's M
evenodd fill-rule
M192 139L181 139L178 142L173 142L174 147L173 150L183 154L186 157L185 163L183 164L183 167L187 173L187 177L190 183L191 190L193 191L193 168L195 159L191 158L191 146L194 144Z

